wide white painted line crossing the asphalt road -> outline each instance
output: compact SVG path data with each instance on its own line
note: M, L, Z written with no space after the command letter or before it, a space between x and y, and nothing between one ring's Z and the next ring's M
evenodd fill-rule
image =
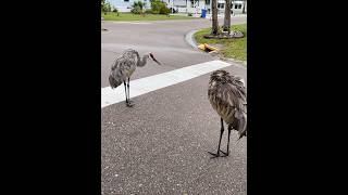
M210 61L137 80L130 80L130 99L231 65L232 64L222 61ZM111 89L110 87L101 88L101 108L123 101L125 101L123 84L116 89Z

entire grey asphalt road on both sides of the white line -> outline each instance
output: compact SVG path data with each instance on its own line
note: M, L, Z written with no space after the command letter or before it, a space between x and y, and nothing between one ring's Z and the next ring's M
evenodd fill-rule
M152 52L163 64L149 63L133 79L215 58L184 41L185 34L209 27L210 21L149 23L102 23L109 29L101 37L102 88L108 86L112 60L128 47L140 54ZM247 79L245 67L224 69ZM101 109L102 194L247 193L247 140L235 145L237 132L233 132L228 157L210 159L207 153L216 151L220 133L220 118L207 99L209 76L136 96L132 108L121 102Z

